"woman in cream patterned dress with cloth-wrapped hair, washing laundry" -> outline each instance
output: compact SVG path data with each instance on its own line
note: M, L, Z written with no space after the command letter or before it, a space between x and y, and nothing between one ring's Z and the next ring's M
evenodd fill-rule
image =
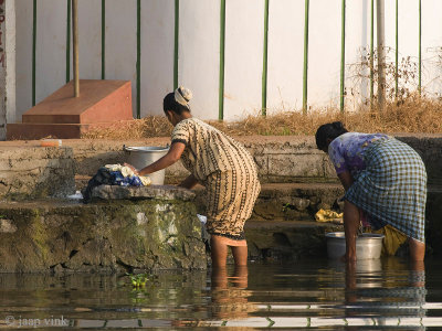
M181 159L191 174L180 186L192 189L201 183L207 190L207 229L211 235L212 265L225 266L230 246L235 265L245 266L244 223L251 216L261 190L256 166L241 143L192 117L191 97L191 92L185 87L165 97L164 111L175 126L169 152L141 170L130 167L145 175Z

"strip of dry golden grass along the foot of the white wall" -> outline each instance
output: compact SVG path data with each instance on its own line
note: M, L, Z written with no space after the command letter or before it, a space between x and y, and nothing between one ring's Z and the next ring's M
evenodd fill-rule
M411 96L400 103L389 103L383 111L359 110L341 114L338 109L316 109L304 116L286 111L267 117L249 116L241 121L210 121L231 136L315 135L319 125L340 120L348 130L359 132L442 134L442 103ZM149 116L84 135L88 139L139 139L167 137L172 130L166 117Z

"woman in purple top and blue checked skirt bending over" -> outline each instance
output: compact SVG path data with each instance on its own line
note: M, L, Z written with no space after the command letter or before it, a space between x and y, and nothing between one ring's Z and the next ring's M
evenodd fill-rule
M346 190L346 260L356 260L356 237L365 213L375 228L391 225L409 238L410 258L425 255L427 171L407 143L383 134L348 132L340 121L320 126L317 148L328 152Z

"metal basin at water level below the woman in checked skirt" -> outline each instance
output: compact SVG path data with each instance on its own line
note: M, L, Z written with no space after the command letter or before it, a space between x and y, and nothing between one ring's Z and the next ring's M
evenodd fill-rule
M329 258L340 258L346 252L346 242L344 232L332 232L325 235L327 237L327 255ZM383 235L365 233L356 238L356 258L372 259L380 258L382 250Z

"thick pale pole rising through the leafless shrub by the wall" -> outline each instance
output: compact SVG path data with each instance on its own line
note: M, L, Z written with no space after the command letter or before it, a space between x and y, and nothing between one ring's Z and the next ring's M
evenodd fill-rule
M377 0L377 34L378 34L378 104L379 109L383 109L386 96L386 72L385 72L385 2Z

